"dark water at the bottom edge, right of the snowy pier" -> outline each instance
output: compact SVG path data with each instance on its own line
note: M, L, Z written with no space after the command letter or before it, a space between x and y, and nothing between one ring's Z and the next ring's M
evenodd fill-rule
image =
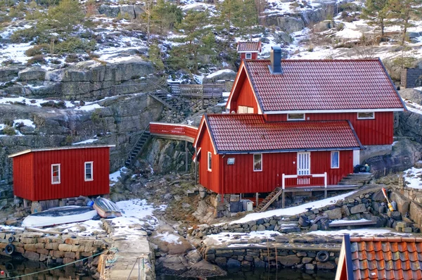
M157 280L188 280L169 275L157 275ZM209 277L207 280L333 280L335 272L315 271L306 273L302 270L279 269L278 271L264 269L229 271L227 276Z

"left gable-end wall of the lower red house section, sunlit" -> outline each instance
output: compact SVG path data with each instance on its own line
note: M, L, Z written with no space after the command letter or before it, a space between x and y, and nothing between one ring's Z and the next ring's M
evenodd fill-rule
M199 183L205 188L215 191L216 193L220 193L220 177L219 177L219 167L220 167L220 156L214 154L214 148L212 146L212 142L210 139L210 134L207 129L205 132L200 136L198 139L198 148L200 150L200 157L199 157ZM211 152L212 159L211 165L212 171L207 170L207 160L208 160L208 152Z

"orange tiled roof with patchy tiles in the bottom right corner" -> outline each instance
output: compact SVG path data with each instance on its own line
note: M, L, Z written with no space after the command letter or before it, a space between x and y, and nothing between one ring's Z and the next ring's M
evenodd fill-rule
M359 279L422 279L422 238L350 237L353 276Z

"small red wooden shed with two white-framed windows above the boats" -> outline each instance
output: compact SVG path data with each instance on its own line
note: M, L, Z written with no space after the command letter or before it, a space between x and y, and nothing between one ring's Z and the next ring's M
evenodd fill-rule
M9 155L13 194L29 201L107 194L110 147L38 148Z

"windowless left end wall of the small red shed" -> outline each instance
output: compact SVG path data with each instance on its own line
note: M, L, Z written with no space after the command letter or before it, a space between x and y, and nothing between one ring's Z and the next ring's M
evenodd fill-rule
M33 200L34 197L34 154L25 153L13 158L13 194Z

